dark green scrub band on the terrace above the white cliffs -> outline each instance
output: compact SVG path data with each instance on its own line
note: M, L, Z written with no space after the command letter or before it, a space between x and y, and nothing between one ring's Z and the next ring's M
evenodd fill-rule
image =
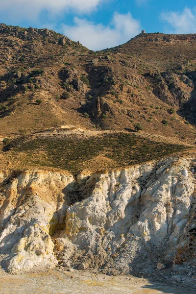
M135 134L105 134L88 139L74 138L39 138L28 140L27 137L17 138L4 144L3 150L13 150L15 154L25 152L26 155L45 150L43 162L40 158L28 158L28 164L39 166L59 166L70 172L78 172L84 168L85 162L99 154L113 160L113 168L143 163L157 157L184 150L183 145L158 143ZM89 152L90 150L90 152ZM134 150L134 152L133 152ZM46 161L47 158L47 161Z

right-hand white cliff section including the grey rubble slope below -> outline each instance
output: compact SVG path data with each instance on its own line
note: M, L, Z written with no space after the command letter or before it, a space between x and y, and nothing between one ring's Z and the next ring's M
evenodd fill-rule
M104 259L115 257L116 265L127 270L134 260L135 266L142 262L139 255L147 258L152 253L153 259L154 251L173 253L194 192L195 178L186 159L95 176L92 196L67 212L66 233L73 244Z

